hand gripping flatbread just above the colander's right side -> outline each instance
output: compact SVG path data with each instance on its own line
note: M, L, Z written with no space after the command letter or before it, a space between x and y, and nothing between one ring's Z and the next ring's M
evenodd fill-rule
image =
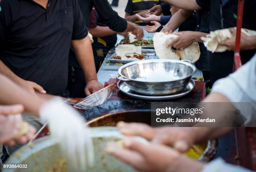
M187 48L189 45L191 45L194 42L194 36L192 31L177 32L174 34L178 35L179 37L177 37L175 40L170 42L168 47L183 49L183 48Z

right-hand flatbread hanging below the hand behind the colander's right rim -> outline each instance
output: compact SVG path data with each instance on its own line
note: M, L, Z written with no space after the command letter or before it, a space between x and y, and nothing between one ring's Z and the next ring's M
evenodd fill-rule
M183 50L176 50L176 52L179 55L180 60L189 60L192 63L195 63L200 58L200 47L197 42L193 42Z

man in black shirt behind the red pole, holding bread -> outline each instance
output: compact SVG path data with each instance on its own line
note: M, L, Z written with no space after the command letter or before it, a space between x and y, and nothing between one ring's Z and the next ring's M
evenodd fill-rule
M200 10L202 8L210 9L210 31L236 27L236 16L238 0L163 0L171 5L187 9ZM243 28L256 30L256 1L245 0L243 12ZM227 47L233 47L234 37L223 44ZM234 49L222 53L208 52L210 60L211 82L228 76L233 70ZM241 61L243 64L248 62L256 53L256 36L248 37L242 33L241 37Z

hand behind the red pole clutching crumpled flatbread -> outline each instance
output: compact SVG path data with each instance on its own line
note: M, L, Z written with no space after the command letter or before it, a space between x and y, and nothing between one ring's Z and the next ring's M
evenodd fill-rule
M236 29L232 28L229 30L233 37L231 37L230 39L226 39L222 42L220 42L220 45L225 45L228 47L229 51L235 51L235 46L236 46ZM246 50L251 50L253 48L250 48L250 36L247 36L246 34L244 34L243 32L241 32L241 42L240 42L240 50L241 51L246 51Z

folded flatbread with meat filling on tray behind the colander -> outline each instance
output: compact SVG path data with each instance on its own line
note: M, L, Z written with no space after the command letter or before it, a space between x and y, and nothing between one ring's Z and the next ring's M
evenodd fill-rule
M143 60L142 47L135 45L118 45L116 47L116 56L114 59L118 60Z

